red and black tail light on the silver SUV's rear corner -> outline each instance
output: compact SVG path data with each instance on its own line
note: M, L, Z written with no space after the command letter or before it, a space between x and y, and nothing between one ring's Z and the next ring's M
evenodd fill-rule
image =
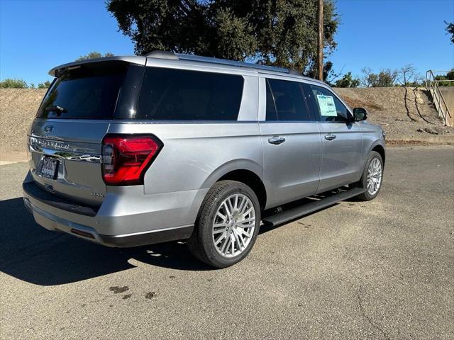
M112 186L143 184L143 176L162 149L155 136L107 135L102 142L102 178Z

